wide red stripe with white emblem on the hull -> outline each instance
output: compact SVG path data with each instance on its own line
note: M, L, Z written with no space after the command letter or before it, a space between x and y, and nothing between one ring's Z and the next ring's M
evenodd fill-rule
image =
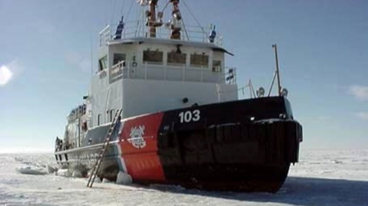
M128 119L120 135L122 159L133 180L164 181L157 134L163 113Z

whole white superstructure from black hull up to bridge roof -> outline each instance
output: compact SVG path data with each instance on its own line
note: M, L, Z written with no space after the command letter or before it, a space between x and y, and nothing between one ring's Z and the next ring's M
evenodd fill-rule
M109 122L120 108L126 118L238 98L236 69L225 66L225 55L230 53L218 44L154 37L114 39L109 28L102 32L106 41L100 46L99 69L92 79L92 126Z

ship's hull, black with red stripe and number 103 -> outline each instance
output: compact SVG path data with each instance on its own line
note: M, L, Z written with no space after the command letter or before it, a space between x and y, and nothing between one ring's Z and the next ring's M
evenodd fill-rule
M123 120L100 177L114 180L120 170L142 184L276 192L290 163L298 161L302 140L289 105L284 98L259 98ZM88 170L98 150L96 144L56 157L60 164Z

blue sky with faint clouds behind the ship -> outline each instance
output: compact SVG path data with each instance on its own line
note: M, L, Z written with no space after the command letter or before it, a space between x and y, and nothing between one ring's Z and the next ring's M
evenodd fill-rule
M98 32L121 14L134 20L132 1L0 0L0 152L53 150L88 92ZM303 125L301 149L368 148L368 1L185 2L223 35L239 87L251 79L268 90L277 44L282 86Z

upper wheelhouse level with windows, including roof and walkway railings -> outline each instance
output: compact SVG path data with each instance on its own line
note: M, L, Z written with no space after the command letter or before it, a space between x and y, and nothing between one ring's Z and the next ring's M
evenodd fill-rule
M132 31L124 27L116 38L114 27L108 25L100 32L98 74L108 73L110 83L135 78L236 84L236 69L224 64L224 54L233 54L221 46L222 37L209 40L209 29L193 26L198 30L186 30L181 38L172 39L167 29L156 28L158 34L150 37L145 27Z

